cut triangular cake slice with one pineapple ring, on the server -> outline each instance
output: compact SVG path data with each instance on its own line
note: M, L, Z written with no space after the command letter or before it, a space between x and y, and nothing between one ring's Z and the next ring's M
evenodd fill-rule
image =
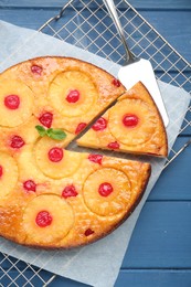
M77 145L95 149L167 157L168 140L161 115L141 82L120 96Z

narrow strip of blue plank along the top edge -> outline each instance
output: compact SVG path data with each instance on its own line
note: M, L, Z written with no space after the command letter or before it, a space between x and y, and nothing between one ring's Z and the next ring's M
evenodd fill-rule
M118 0L119 1L119 0ZM17 7L17 8L61 8L64 3L66 3L67 0L0 0L1 7ZM102 3L102 0L96 0L97 3ZM96 4L95 2L95 4ZM129 3L131 3L137 9L173 9L173 10L182 10L182 9L191 9L191 2L190 1L182 1L182 0L161 0L161 1L153 1L153 0L145 0L144 2L141 0L129 0ZM116 1L117 3L117 1Z

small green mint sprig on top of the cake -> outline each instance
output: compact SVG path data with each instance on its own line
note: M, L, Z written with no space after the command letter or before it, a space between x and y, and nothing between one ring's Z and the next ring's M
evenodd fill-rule
M63 131L62 129L53 129L53 128L45 129L42 126L35 126L35 129L38 130L38 132L41 137L47 136L55 140L62 140L62 139L66 138L66 136L67 136L65 134L65 131Z

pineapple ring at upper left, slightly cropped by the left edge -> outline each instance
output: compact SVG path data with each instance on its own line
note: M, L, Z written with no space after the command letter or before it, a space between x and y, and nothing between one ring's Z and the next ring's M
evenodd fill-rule
M15 109L8 108L4 104L6 97L15 95L19 97L19 107ZM20 81L7 79L0 83L0 126L17 127L32 115L33 109L33 93L32 91Z

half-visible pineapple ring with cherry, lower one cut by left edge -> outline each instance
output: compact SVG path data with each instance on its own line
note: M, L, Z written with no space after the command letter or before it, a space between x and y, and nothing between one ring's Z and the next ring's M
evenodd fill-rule
M15 160L0 152L0 200L6 198L15 187L18 181L18 166Z

